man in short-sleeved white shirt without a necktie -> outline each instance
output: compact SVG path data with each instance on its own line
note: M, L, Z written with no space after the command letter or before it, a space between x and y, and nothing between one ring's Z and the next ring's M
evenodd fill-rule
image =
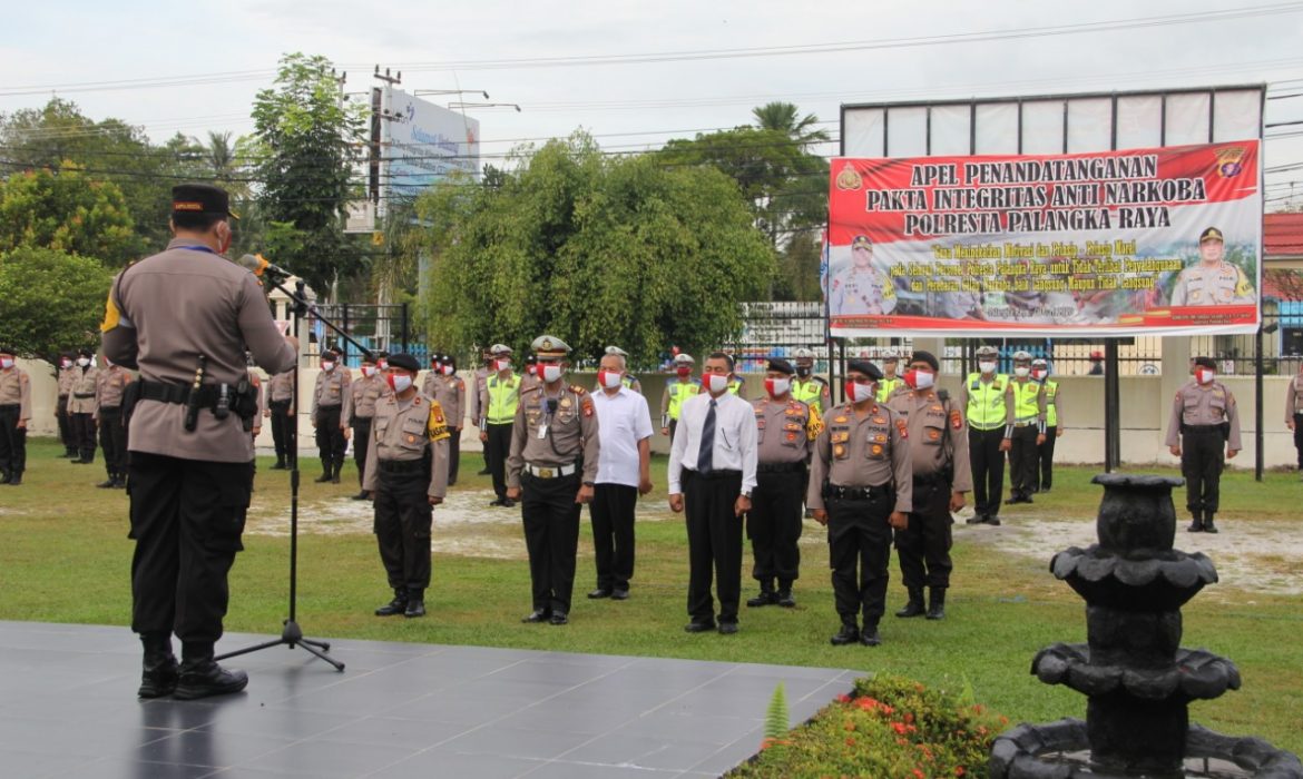
M589 598L624 601L633 577L633 517L638 495L652 491L652 412L624 383L624 357L607 350L597 371L601 457L589 512L597 552L597 589Z

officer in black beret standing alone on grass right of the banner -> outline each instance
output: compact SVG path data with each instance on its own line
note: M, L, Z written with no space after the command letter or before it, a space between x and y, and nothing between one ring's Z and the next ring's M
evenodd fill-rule
M1240 451L1239 409L1235 396L1217 380L1217 363L1196 357L1194 380L1177 391L1167 421L1167 447L1181 457L1186 477L1186 508L1194 520L1191 533L1217 533L1221 472L1226 460ZM1225 447L1225 459L1222 456Z

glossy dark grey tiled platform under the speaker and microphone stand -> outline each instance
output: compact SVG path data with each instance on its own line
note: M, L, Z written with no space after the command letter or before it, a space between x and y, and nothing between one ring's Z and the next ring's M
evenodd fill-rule
M0 621L0 775L717 776L760 748L779 681L795 724L863 675L349 640L330 654L343 673L275 647L227 660L244 693L138 701L126 628Z

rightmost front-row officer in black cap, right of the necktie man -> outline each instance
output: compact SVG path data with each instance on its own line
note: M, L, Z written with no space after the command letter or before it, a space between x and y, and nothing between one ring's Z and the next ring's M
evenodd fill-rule
M833 591L842 617L834 646L881 644L891 530L908 528L913 511L909 432L903 417L874 400L881 378L882 371L866 360L848 362L848 400L829 412L814 442L805 503L827 526Z

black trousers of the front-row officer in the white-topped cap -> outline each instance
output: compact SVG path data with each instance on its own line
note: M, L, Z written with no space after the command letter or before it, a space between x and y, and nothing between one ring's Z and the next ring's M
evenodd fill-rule
M511 431L511 425L500 427ZM489 430L493 429L490 425ZM493 432L489 438L493 439ZM579 473L550 479L537 478L528 472L520 474L524 495L520 513L525 524L529 582L536 610L569 614L581 505L575 503L575 498L580 485Z

